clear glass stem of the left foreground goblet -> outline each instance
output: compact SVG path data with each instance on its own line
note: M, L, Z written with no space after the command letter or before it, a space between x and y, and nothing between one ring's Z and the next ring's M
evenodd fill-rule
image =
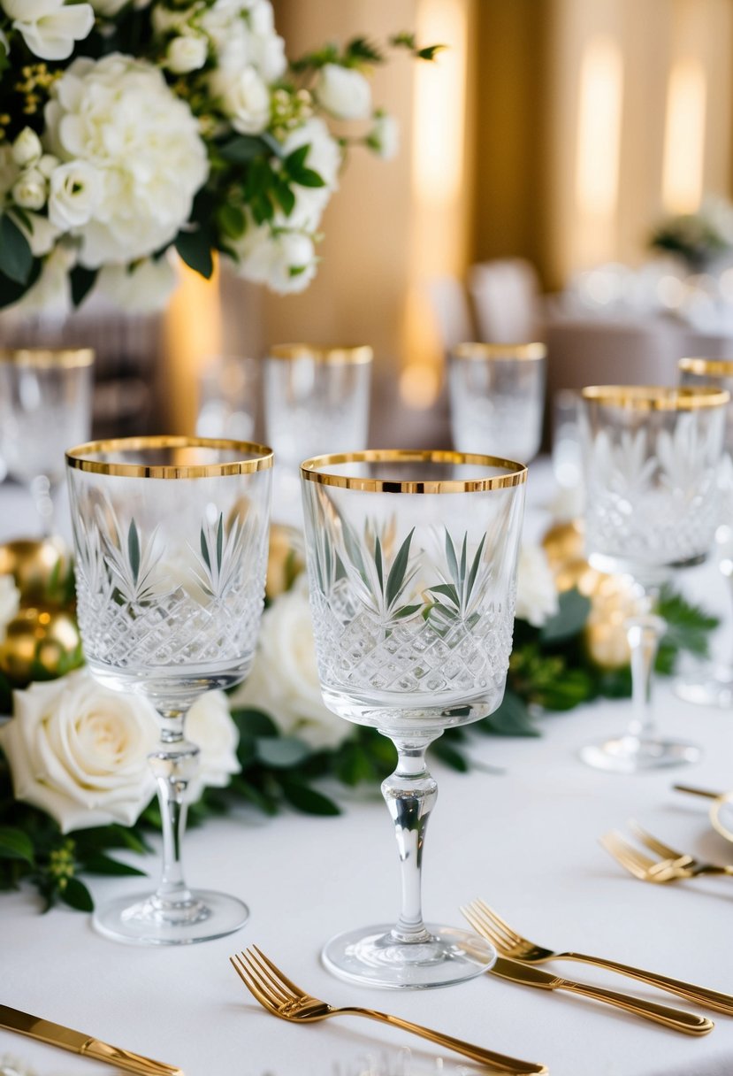
M158 785L163 835L163 864L155 900L182 905L192 897L183 877L181 846L186 830L186 789L199 764L199 749L184 738L183 710L160 710L160 745L149 755Z

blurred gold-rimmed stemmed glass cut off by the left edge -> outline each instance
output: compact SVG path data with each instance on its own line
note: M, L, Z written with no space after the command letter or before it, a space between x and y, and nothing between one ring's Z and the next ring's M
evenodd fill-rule
M91 431L94 359L88 348L0 352L0 456L30 490L44 538L55 532L64 450Z

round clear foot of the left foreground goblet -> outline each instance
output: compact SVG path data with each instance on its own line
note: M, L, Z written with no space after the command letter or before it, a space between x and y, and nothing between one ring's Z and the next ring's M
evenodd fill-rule
M235 896L193 890L190 900L161 904L149 893L117 897L95 911L95 930L128 945L193 945L233 934L249 918Z

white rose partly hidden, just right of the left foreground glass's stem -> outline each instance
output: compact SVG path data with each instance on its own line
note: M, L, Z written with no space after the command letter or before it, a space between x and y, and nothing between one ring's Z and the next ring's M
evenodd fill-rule
M206 692L193 703L186 717L186 738L201 752L187 791L195 803L205 787L222 789L242 768L236 758L240 734L222 691Z

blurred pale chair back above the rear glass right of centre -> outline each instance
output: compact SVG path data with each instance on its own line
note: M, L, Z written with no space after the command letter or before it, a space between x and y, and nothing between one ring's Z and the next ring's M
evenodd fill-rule
M469 270L469 292L487 343L521 343L544 338L540 279L524 258L480 261Z

